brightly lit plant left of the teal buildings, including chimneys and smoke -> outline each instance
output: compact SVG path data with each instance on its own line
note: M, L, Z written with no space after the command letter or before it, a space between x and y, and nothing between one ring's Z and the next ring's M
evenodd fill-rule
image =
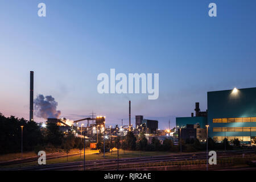
M50 99L48 99L50 98ZM48 99L48 100L47 100ZM53 102L52 102L53 101ZM42 106L40 103L43 102ZM45 107L45 105L47 105ZM53 105L53 104L54 105ZM35 104L35 106L34 106ZM172 133L174 131L168 130L159 130L158 121L151 119L144 119L143 115L135 115L135 127L131 123L131 101L129 101L129 125L106 125L108 119L106 116L95 115L92 113L91 117L81 118L76 121L71 121L67 118L59 118L60 111L56 110L57 103L54 101L52 96L39 95L36 100L34 100L34 71L30 72L30 121L34 121L34 112L40 113L39 117L47 117L44 125L48 123L55 123L60 127L60 130L63 133L73 133L76 137L86 138L87 141L90 141L92 148L96 147L98 142L98 136L108 135L109 137L115 138L119 136L125 136L128 131L133 132L135 135L144 133L149 142L152 138L158 138L163 141L165 138L174 139ZM36 108L34 110L34 107ZM48 118L51 116L50 118ZM86 126L82 121L86 121Z

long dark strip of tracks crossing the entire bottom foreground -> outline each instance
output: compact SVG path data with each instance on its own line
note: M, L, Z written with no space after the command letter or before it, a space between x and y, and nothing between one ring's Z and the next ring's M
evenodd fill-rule
M227 151L227 152L217 152L217 159L221 158L236 158L242 157L242 155L255 155L255 150L250 151ZM145 164L145 163L156 163L156 162L175 162L184 160L204 160L205 152L196 154L180 154L180 155L164 155L164 156L151 156L142 158L126 158L119 159L119 168L126 164ZM116 170L117 169L117 159L105 159L105 160L90 160L86 161L86 170ZM84 162L70 162L70 163L59 163L59 164L46 164L42 166L32 166L24 168L9 168L1 170L61 170L61 171L73 171L73 170L84 170Z

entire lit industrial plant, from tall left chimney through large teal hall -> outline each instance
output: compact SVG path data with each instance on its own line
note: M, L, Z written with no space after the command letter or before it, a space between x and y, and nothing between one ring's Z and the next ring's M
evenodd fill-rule
M98 134L117 137L118 135L126 135L127 131L132 131L135 135L145 133L148 141L155 137L161 140L171 138L174 142L179 139L198 139L200 142L206 142L207 138L211 137L216 142L221 142L224 138L228 140L238 138L241 144L254 144L256 137L256 125L254 123L256 111L253 98L256 96L256 88L234 88L233 90L208 92L207 95L208 109L201 111L199 102L196 102L195 116L194 113L191 113L191 117L177 117L175 130L172 131L170 128L159 130L158 121L145 119L143 115L135 115L135 127L133 127L131 123L131 101L129 101L129 125L106 125L108 119L102 115L92 115L92 117L81 118L76 121L57 118L60 115L60 111L56 110L56 106L53 106L53 114L49 114L55 118L47 118L46 124L49 122L56 123L60 126L61 131L74 132L77 137L81 138L86 135L86 139L96 143L98 142ZM52 100L54 98L51 98ZM30 121L33 120L34 72L31 71ZM86 126L84 123L79 126L82 121L87 121ZM174 134L176 135L174 136Z

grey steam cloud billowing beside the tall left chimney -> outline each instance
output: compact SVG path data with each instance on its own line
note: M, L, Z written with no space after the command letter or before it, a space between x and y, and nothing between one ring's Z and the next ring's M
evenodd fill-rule
M61 112L56 110L58 102L54 100L52 96L44 97L39 94L34 100L35 104L35 115L39 118L59 118Z

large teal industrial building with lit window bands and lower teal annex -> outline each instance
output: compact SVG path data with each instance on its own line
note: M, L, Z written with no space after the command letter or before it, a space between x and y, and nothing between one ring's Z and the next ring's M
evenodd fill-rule
M209 125L208 135L216 142L221 142L224 138L228 140L238 138L241 143L254 143L256 88L208 92L207 107L203 117L196 115L196 117L176 118L176 127L196 123L201 127Z

